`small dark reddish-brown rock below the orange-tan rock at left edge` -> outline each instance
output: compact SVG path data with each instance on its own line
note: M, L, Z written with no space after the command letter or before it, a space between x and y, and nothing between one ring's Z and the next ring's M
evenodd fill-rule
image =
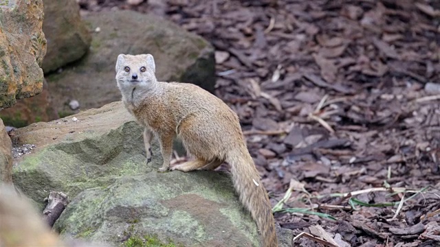
M52 106L47 82L43 80L43 91L33 97L19 99L17 103L0 110L0 117L6 126L21 128L39 121L58 119L58 113Z

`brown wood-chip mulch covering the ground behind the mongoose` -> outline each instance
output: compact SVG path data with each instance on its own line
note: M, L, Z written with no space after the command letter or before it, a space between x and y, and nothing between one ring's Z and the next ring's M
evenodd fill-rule
M273 204L291 187L283 209L337 219L275 213L281 226L339 246L440 246L440 1L80 2L157 14L214 45L216 95ZM371 188L385 189L355 192Z

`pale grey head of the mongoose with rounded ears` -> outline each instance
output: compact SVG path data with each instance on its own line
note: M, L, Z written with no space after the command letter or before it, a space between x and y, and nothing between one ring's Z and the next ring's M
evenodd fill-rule
M116 62L116 83L121 90L148 88L157 82L151 54L120 54Z

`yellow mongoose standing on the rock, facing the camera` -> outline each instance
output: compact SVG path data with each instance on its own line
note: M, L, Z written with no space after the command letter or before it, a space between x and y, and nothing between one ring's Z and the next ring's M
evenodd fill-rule
M159 172L170 167L175 136L195 160L175 165L171 170L212 170L223 161L228 162L234 187L259 226L263 246L278 246L270 201L248 152L236 113L221 99L194 84L157 82L151 54L120 54L116 81L126 109L145 127L147 163L151 161L153 135L159 139L164 158Z

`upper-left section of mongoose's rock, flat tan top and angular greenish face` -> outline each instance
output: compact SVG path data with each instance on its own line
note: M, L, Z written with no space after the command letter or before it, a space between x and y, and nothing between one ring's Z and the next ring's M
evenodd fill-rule
M14 148L35 145L32 154L14 158L12 179L41 209L51 190L74 198L85 189L152 169L145 165L142 128L121 102L19 128L12 141ZM157 145L153 152L159 154Z

